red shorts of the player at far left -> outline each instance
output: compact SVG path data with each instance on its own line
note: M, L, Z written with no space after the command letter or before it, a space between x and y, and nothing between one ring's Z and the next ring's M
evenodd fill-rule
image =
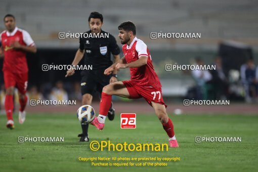
M28 84L28 72L26 73L13 73L4 71L5 88L16 87L21 94L25 94Z

